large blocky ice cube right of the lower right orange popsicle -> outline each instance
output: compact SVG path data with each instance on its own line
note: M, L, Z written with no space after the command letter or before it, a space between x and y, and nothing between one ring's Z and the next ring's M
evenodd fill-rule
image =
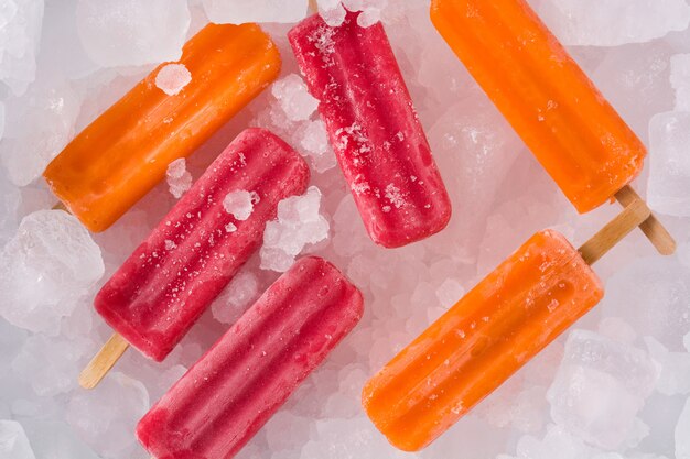
M587 330L573 330L547 398L551 417L593 445L615 449L656 383L646 352Z

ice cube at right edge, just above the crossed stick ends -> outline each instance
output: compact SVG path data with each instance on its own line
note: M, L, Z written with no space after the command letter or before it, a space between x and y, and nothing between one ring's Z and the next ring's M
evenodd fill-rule
M690 112L670 111L649 122L647 203L661 214L690 217Z

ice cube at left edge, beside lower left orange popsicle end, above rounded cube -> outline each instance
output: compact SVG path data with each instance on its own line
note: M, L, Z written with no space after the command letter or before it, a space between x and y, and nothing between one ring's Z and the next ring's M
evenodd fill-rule
M6 102L2 155L18 186L39 177L74 135L80 99L67 81L36 81L22 97Z

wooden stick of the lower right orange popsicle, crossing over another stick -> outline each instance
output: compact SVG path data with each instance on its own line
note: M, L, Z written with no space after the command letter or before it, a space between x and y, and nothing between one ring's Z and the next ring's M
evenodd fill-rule
M594 264L630 231L648 220L650 215L651 210L647 207L647 203L635 199L616 218L582 244L578 251L587 264Z

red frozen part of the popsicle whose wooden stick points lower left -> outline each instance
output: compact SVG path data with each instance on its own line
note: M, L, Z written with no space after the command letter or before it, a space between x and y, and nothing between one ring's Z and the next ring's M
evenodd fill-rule
M128 343L163 360L260 247L278 203L308 181L292 147L245 130L104 285L96 309ZM246 203L228 211L230 193Z

